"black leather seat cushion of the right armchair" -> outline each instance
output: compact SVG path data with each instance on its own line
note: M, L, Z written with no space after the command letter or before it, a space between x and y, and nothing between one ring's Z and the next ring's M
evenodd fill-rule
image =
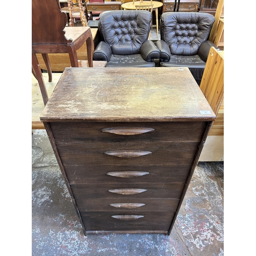
M168 62L160 62L161 67L188 67L190 69L204 69L205 62L198 55L172 55Z

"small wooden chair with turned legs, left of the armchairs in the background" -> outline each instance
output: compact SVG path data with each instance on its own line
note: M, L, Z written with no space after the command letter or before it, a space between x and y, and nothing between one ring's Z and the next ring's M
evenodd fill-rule
M75 2L75 3L73 3ZM79 8L79 12L74 12L73 6L77 4ZM84 15L84 12L86 11L86 7L83 7L82 0L68 0L68 7L69 7L69 26L74 27L74 23L76 23L77 20L80 20L83 27L87 27L87 17Z

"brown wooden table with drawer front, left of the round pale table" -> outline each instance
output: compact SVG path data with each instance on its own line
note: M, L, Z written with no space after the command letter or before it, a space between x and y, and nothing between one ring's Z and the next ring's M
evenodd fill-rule
M113 11L113 10L121 10L121 2L88 2L87 11L91 13L91 19L93 19L92 12L101 12L101 11Z

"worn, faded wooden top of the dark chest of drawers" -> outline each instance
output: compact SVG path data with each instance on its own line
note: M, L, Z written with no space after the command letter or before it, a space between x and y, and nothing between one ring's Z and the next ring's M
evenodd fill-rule
M201 111L201 112L200 112ZM210 121L188 68L66 68L40 120Z

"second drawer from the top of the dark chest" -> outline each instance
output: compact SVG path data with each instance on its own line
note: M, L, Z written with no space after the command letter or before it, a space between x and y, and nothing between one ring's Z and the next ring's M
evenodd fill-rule
M198 142L57 143L66 165L190 165Z

